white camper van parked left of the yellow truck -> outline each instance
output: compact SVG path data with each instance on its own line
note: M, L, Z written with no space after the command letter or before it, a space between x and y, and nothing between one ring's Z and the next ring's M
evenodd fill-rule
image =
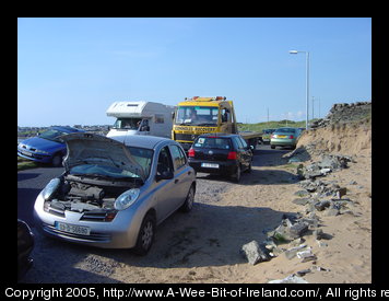
M153 102L115 102L107 116L116 117L107 137L151 135L170 138L174 106Z

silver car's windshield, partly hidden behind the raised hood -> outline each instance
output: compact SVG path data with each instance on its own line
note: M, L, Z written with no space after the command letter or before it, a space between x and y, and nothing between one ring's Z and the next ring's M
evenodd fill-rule
M150 149L142 149L142 148L134 148L134 147L127 147L130 151L134 161L142 166L144 171L145 177L150 174L152 158L153 158L153 150ZM98 164L93 163L94 158L87 158L83 160L85 164L75 165L70 169L69 173L72 175L85 175L85 176L97 176L97 177L106 177L106 178L141 178L139 174L132 173L128 170L120 169L120 164L115 162L115 158L109 158L113 164L105 165L101 163L102 160L96 158L99 161Z

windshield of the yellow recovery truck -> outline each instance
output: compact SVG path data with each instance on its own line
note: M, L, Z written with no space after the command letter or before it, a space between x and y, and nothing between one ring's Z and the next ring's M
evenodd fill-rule
M215 106L178 106L176 125L216 126L219 107Z

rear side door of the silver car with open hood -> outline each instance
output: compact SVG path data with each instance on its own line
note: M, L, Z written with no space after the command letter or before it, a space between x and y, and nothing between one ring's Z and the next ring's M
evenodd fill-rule
M175 184L175 194L176 194L176 208L180 207L190 188L190 173L192 172L187 164L187 157L182 149L176 144L169 144L173 165L174 165L174 184Z

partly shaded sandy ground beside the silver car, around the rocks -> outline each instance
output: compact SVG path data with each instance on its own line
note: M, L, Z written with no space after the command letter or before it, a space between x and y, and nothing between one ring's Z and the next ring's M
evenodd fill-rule
M331 136L333 130L327 134ZM322 139L325 134L315 135L316 138L305 137L302 141ZM349 143L347 137L338 142L331 139L333 143ZM36 235L32 254L35 266L24 281L264 283L310 269L303 276L308 282L370 282L372 158L369 143L361 144L364 149L355 147L354 163L349 163L349 169L326 176L326 181L337 181L347 188L351 213L327 217L318 212L320 229L330 239L322 241L327 246L319 246L313 235L304 236L305 244L317 256L315 262L302 263L297 257L287 259L281 254L269 262L250 265L239 254L244 244L252 240L262 242L267 230L278 227L284 213L304 211L303 206L292 202L296 198L294 193L302 189L295 164L282 159L285 151L278 153L269 149L256 155L251 174L245 174L239 184L200 174L193 210L187 215L174 213L163 222L146 256ZM330 151L339 150L344 148L334 146Z

